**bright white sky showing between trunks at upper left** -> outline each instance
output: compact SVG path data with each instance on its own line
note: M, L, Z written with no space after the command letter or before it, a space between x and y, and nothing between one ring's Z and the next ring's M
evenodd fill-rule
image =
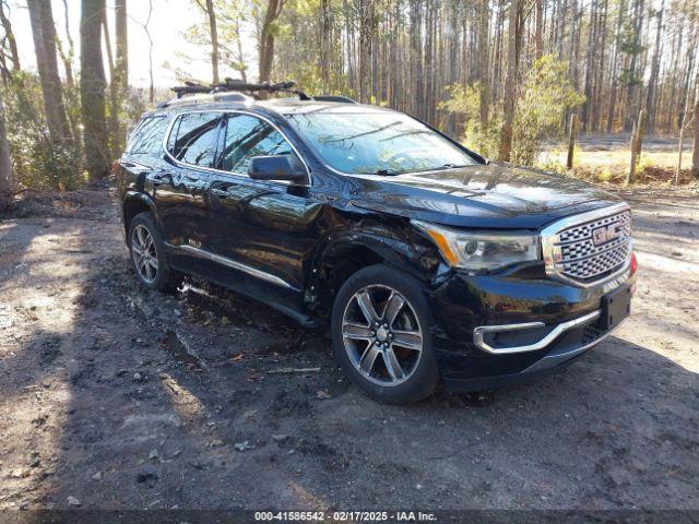
M68 19L70 31L75 44L76 57L80 56L80 5L81 0L66 0L68 4ZM10 0L10 21L15 33L20 60L23 69L36 69L34 56L34 40L29 14L24 0ZM52 0L54 22L61 41L66 43L66 16L62 0ZM141 26L149 14L147 0L128 0L129 13L129 83L133 86L145 87L149 85L149 39ZM114 46L114 0L107 0L107 16L109 20L110 37ZM165 67L167 62L178 64L190 73L193 79L210 80L211 62L206 46L193 46L183 37L187 28L193 24L204 24L201 10L191 0L153 0L153 13L149 25L153 37L153 72L156 87L171 87L178 82L173 68ZM257 49L254 39L244 37L244 52L247 63L252 69L250 74L254 78L257 64ZM192 60L183 64L178 56L185 53ZM76 59L78 60L78 59ZM76 64L75 69L80 69ZM59 70L62 68L59 64ZM105 67L106 71L106 67ZM62 73L62 71L61 71ZM107 73L108 74L108 73ZM221 76L239 76L230 70L222 67Z

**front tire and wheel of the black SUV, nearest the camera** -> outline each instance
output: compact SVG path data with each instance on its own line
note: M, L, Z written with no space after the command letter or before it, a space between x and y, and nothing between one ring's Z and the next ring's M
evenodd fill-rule
M439 383L426 287L383 264L353 274L332 311L332 345L345 374L371 398L410 404Z

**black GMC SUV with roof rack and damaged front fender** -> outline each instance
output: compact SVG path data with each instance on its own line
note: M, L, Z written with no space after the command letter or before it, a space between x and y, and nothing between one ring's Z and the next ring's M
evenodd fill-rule
M143 284L197 275L330 321L344 372L396 404L561 369L628 315L619 199L401 112L303 98L186 95L142 117L118 172Z

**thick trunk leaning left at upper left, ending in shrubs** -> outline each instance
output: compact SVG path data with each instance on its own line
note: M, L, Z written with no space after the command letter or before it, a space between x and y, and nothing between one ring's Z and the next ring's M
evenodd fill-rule
M49 136L52 143L66 144L71 142L71 134L63 104L63 90L58 76L56 27L51 3L44 0L27 0L27 8ZM97 24L99 25L99 21Z

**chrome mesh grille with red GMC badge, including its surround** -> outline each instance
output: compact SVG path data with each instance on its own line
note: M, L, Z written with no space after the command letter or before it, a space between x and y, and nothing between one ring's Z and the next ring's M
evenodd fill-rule
M628 264L630 211L617 205L566 218L542 233L542 247L549 275L592 285Z

